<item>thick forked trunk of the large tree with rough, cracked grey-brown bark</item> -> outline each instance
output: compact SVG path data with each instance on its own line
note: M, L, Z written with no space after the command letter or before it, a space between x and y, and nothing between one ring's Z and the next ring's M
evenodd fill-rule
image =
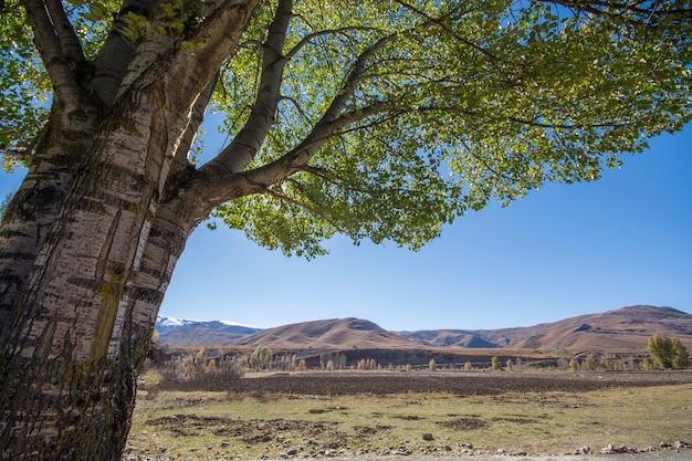
M55 93L0 228L0 459L120 459L136 370L205 216L184 193L185 154L254 4L218 3L197 32L209 51L193 55L144 50L135 65L113 35L78 81L85 61L60 2L24 2Z

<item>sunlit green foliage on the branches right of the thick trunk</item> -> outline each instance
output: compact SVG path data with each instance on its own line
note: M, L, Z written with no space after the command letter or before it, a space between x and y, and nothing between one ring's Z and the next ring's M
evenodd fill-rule
M598 179L648 137L691 116L689 30L646 31L623 18L570 15L538 2L296 2L283 99L254 166L305 139L354 70L342 114L354 122L311 168L217 209L227 224L286 254L324 254L335 233L418 250L493 198L545 181ZM216 111L237 134L260 78L265 3L223 70ZM321 31L332 31L321 33ZM314 34L300 49L305 36ZM394 34L394 35L392 35Z

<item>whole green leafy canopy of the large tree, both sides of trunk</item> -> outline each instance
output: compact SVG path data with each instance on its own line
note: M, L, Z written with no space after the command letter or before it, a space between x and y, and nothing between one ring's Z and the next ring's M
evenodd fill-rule
M106 64L107 40L117 34L157 60L203 53L200 30L219 2L73 0L64 13L55 3L46 11L72 53L63 55L108 111L127 80L99 91L117 64ZM31 18L17 1L2 8L0 144L11 167L31 160L60 82L31 42ZM198 143L184 157L214 189L190 190L200 214L216 207L231 228L287 254L322 254L335 233L418 249L493 197L508 203L545 181L598 179L620 154L680 129L692 114L690 10L679 1L262 2L208 101L226 114L228 144L216 155ZM137 65L126 62L122 74ZM240 196L223 181L238 172L254 185Z

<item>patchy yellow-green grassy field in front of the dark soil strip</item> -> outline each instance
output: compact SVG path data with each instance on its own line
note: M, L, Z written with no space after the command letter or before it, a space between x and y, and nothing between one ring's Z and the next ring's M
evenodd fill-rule
M139 392L130 459L564 454L688 440L692 385L461 396Z

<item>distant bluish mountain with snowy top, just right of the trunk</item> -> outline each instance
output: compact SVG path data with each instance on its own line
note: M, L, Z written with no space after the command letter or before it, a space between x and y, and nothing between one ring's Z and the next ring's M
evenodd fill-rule
M235 339L260 332L260 328L232 322L198 322L157 317L154 329L159 340L174 347L229 346Z

